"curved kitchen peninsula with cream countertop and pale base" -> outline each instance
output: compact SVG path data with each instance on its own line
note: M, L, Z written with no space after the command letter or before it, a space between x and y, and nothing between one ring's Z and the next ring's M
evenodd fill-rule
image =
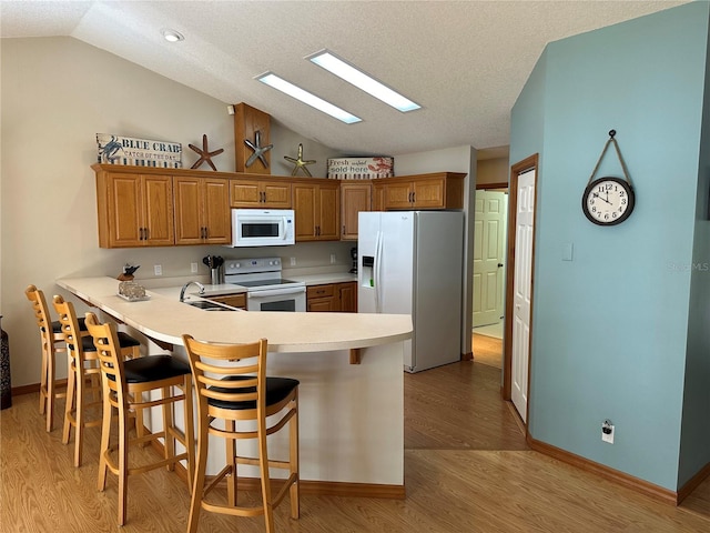
M143 354L185 358L183 333L225 343L267 339L268 374L301 382L302 490L404 497L403 354L412 338L409 315L209 312L181 303L180 288L174 296L165 289L148 290L149 300L126 302L118 295L119 281L111 278L57 283L100 309L100 320L124 324L142 340ZM361 364L349 363L352 349L359 349ZM276 456L286 449L278 439L270 446ZM216 473L222 455L219 450L212 453L207 474Z

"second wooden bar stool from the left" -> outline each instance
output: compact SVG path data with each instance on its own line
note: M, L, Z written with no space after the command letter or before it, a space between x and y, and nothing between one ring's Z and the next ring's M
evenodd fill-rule
M65 302L60 295L53 298L54 311L59 315L57 321L60 333L67 346L69 370L67 375L67 403L64 405L64 428L62 443L69 444L71 429L74 434L74 466L81 466L81 452L83 449L83 430L101 425L101 371L99 370L99 356L93 344L93 339L85 331L81 332L80 322L72 302ZM81 320L84 324L84 319ZM124 359L139 358L141 343L131 335L120 332L118 334L120 353ZM91 409L98 410L93 420L88 419ZM135 422L139 432L142 432L143 420Z

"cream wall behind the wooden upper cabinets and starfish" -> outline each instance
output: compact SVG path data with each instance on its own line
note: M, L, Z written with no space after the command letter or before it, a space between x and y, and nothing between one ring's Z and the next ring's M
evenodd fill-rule
M222 247L100 249L90 168L97 160L97 133L180 142L185 168L197 159L187 144L202 147L206 134L211 150L224 148L213 160L217 169L234 171L233 117L226 105L239 101L221 102L72 38L0 42L0 151L6 155L0 180L0 310L17 388L40 378L39 334L23 293L28 284L42 289L51 301L61 293L55 279L115 276L126 262L141 265L139 280L152 278L156 263L164 278L191 276L190 263L199 262L206 281L204 255L243 257ZM271 131L275 174L291 173L293 167L285 165L283 157L295 157L300 142L304 157L317 160L310 167L315 177L325 175L327 158L341 155L275 121ZM308 243L268 251L296 257L298 266L306 268L329 268L329 253L336 253L341 270L347 270L351 245ZM262 254L265 249L256 250ZM64 375L65 368L60 371Z

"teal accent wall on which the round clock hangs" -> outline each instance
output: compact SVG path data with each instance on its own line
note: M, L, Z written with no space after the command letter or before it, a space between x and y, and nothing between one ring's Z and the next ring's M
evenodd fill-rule
M708 233L709 9L694 2L550 43L511 114L510 162L540 153L531 436L671 491L710 462L708 393L701 376L686 388L687 371L703 365L710 383L710 271L693 269L710 263L708 241L693 240ZM611 129L637 204L601 228L581 194ZM604 175L623 175L612 147ZM568 243L574 260L562 261ZM605 419L612 445L601 441Z

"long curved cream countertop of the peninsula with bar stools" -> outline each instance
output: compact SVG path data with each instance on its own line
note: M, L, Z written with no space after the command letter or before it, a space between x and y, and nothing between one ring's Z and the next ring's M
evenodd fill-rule
M181 303L180 286L146 290L148 301L126 302L118 295L119 281L112 278L61 279L57 284L145 335L172 344L182 344L182 334L189 333L199 340L226 343L265 338L270 352L318 352L412 338L408 314L211 312ZM234 286L224 289L234 293ZM195 286L187 289L187 294L196 292Z

